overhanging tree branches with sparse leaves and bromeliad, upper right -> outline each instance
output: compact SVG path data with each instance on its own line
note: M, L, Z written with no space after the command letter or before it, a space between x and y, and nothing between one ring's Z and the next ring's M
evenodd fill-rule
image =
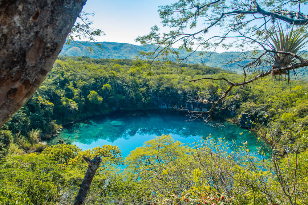
M199 50L202 61L203 53L213 52L218 47L244 51L241 57L231 60L250 60L247 65L239 65L243 69L242 80L231 81L224 77L192 80L222 80L229 84L220 92L221 97L217 101L210 102L212 108L203 112L208 114L206 121L209 122L213 108L234 87L244 87L268 75L286 74L290 77L290 70L308 65L303 52L307 43L308 17L302 13L302 8L306 4L307 1L301 0L180 0L160 6L160 18L163 26L170 28L169 33L160 34L160 29L153 26L148 35L140 36L136 41L156 45L153 52L140 52L140 56L147 57L148 64L166 59L170 54L175 56L172 60L182 62ZM200 24L201 30L198 29ZM220 29L220 34L215 32L214 27ZM179 51L174 49L178 45L179 49L188 52L186 57L180 57Z

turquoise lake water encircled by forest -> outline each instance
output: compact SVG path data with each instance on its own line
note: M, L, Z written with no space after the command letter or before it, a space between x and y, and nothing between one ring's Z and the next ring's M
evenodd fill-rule
M224 126L217 129L199 119L187 120L189 117L178 111L116 112L65 125L60 135L50 143L57 144L61 139L82 150L111 144L118 146L122 156L126 157L145 141L162 134L170 134L182 143L193 143L201 140L202 136L206 138L212 134L213 138L224 137L229 143L235 140L238 145L247 141L250 150L256 151L257 141L254 136L237 124L223 122Z

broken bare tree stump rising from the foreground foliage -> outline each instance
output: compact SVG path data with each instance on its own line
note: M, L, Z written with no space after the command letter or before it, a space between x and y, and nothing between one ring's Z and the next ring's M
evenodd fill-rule
M99 164L102 162L102 159L98 156L95 156L93 160L85 157L84 155L82 157L89 164L89 167L88 167L86 175L84 175L83 181L80 185L80 188L79 188L78 194L76 196L74 205L84 204L84 199L86 198L87 193L90 189L91 182L93 180L95 172L99 168Z

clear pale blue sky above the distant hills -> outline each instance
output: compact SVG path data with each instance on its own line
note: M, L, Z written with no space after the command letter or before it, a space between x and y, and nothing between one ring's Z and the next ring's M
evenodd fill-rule
M138 36L146 35L151 27L157 25L161 32L168 32L168 28L163 28L158 14L158 6L168 5L177 0L87 0L83 10L94 12L92 18L95 29L103 30L106 35L96 37L96 41L110 41L119 43L130 43L140 45L135 41ZM304 10L305 9L305 10ZM303 8L307 13L307 8ZM302 11L303 12L303 11ZM197 25L196 30L204 29L202 24ZM214 27L209 31L210 34L218 34L219 28ZM235 51L237 49L229 49ZM224 52L225 49L218 49L217 52Z

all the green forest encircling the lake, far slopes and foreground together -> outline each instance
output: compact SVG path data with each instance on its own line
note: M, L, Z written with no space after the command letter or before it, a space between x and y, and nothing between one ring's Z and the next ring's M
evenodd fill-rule
M89 204L286 202L274 172L253 167L257 166L254 163L265 163L271 170L270 162L250 156L245 143L232 148L230 153L223 140L209 138L195 147L187 147L163 135L132 151L125 160L116 146L82 151L74 145L42 143L54 137L61 124L87 116L117 110L173 109L172 106L207 110L210 104L206 101L188 101L201 98L215 101L220 97L219 92L229 85L225 81L190 80L226 77L240 81L243 77L198 64L174 65L174 62L156 62L149 69L131 59L58 57L38 91L0 130L3 159L0 186L4 187L1 193L11 196L0 201L71 203L87 169L82 156L99 155L103 163L88 194ZM253 128L263 142L270 140L268 126L277 124L277 152L284 155L283 145L288 144L289 149L301 153L296 156L297 161L294 153L289 153L288 162L287 159L281 162L284 176L286 163L301 166L296 170L301 203L306 202L307 191L307 90L306 81L291 81L288 86L283 79L263 78L243 89L233 89L226 101L219 104L221 110L216 114ZM258 149L260 153L265 152ZM116 165L123 163L126 169L121 172ZM289 172L294 173L294 169ZM220 180L221 177L227 180ZM224 191L226 186L229 192ZM98 192L102 194L97 195ZM267 194L270 199L265 198Z

